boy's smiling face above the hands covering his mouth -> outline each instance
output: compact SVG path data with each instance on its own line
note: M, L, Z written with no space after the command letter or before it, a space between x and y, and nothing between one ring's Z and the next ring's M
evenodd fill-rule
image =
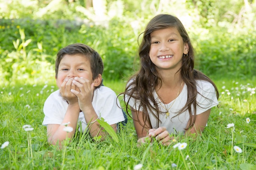
M80 54L65 54L58 66L58 76L56 78L58 88L61 88L65 79L74 79L74 77L83 77L88 79L90 83L93 82L90 60Z

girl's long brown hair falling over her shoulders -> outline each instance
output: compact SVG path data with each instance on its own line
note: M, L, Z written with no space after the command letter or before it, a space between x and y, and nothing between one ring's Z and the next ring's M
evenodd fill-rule
M196 80L205 80L207 82L210 82L215 90L216 90L216 96L219 97L218 89L216 85L202 72L194 69L194 49L191 44L190 38L188 33L186 32L186 29L184 28L182 22L178 18L176 18L173 15L168 14L160 14L155 16L150 22L147 24L146 29L143 33L139 35L139 37L143 34L143 39L141 41L141 44L139 46L139 59L140 59L140 68L135 75L130 77L128 84L126 86L126 89L124 91L124 98L128 96L128 101L126 102L126 111L128 113L128 103L130 98L134 98L135 102L137 100L140 101L140 104L138 106L139 108L143 107L143 118L144 118L144 124L141 124L141 126L145 127L145 121L150 122L149 119L149 112L155 113L154 116L158 120L157 127L159 127L159 114L161 111L159 110L158 103L156 99L153 96L153 91L155 91L157 85L162 84L162 80L160 79L160 75L157 72L155 64L151 62L149 57L149 51L150 51L150 45L151 45L151 39L150 39L150 33L153 31L159 30L159 29L166 29L169 27L176 28L184 43L188 43L189 45L189 53L188 56L182 57L182 66L180 68L180 75L183 79L184 83L186 83L187 86L187 102L185 106L177 112L177 115L180 115L185 110L189 110L189 127L185 130L191 128L193 124L195 123L196 118L196 106L198 105L196 101L196 96L199 94L196 88ZM138 37L138 41L139 41ZM178 72L179 72L178 71ZM121 95L120 94L120 95ZM201 94L199 94L201 95ZM153 106L150 104L150 102L153 102ZM193 113L192 108L193 106ZM194 117L192 116L194 115ZM175 116L175 117L176 117Z

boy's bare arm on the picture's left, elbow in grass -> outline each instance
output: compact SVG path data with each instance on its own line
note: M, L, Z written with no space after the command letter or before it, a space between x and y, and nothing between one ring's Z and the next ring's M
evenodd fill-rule
M61 142L65 140L66 137L72 138L76 130L79 111L80 111L80 108L78 104L77 105L69 104L67 107L67 112L65 114L65 117L61 125L47 124L47 135L48 135L49 144L53 144L53 145L58 144L61 147ZM73 128L72 132L66 132L63 130L65 128L63 124L67 124L68 122L70 122L70 124L68 124L67 126L70 126Z

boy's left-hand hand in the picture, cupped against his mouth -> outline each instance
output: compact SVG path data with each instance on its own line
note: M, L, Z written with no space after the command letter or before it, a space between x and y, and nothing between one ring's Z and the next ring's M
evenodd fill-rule
M72 83L74 79L67 79L61 84L60 93L63 99L65 99L68 104L74 105L78 104L78 99L76 95L71 93L71 89L76 89L76 86ZM79 90L79 89L76 89Z

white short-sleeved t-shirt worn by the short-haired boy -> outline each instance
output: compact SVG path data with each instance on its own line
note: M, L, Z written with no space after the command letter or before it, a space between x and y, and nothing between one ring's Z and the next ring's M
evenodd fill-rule
M46 99L43 112L45 118L43 119L43 125L47 124L62 124L67 111L68 103L60 95L60 91L53 92ZM118 122L124 121L123 111L120 107L120 103L117 99L117 95L114 91L106 86L101 86L95 89L92 99L92 106L99 117L103 117L104 120L112 125ZM87 123L83 112L79 113L78 124L81 121L82 130L84 131Z

